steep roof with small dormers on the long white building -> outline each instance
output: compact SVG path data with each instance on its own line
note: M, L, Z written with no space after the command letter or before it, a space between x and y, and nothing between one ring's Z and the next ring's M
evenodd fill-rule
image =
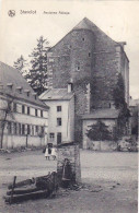
M38 99L38 97L35 99L34 97L34 91L30 86L30 84L26 82L26 80L22 76L22 74L14 68L3 63L0 61L0 92L2 94L7 94L9 96L14 97L15 99L22 99L30 102L34 105L39 105L42 107L45 107L46 109L48 106L46 106L43 102ZM12 90L10 88L10 85L12 86ZM22 88L22 92L19 93L18 88ZM30 92L30 96L27 96L27 92Z

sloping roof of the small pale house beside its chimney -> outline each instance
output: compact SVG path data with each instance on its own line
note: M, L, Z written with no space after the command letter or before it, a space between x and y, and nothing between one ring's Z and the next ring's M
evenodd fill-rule
M39 98L42 100L50 100L50 99L57 99L57 100L68 100L71 99L73 96L73 93L68 93L67 88L51 88L48 91L45 91L42 95L39 95Z

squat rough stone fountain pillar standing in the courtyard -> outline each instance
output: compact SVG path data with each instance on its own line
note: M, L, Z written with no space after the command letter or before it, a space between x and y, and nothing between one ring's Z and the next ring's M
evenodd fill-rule
M79 145L62 144L57 150L57 171L60 179L62 178L62 166L65 158L68 158L72 169L73 182L81 181L81 166L80 166L80 150Z

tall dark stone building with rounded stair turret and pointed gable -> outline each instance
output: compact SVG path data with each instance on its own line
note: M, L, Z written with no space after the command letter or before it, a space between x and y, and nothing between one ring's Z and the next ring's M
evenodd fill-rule
M129 104L129 60L126 43L117 43L84 17L48 52L48 87L66 88L72 82L74 137L82 140L82 116L115 108L113 91L120 73Z

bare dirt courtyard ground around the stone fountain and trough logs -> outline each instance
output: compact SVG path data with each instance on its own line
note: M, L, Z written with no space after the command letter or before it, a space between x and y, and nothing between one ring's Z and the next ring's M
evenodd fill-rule
M56 161L46 161L42 151L0 155L0 213L137 213L138 154L81 151L83 186L62 190L55 199L8 205L8 184L56 170Z

